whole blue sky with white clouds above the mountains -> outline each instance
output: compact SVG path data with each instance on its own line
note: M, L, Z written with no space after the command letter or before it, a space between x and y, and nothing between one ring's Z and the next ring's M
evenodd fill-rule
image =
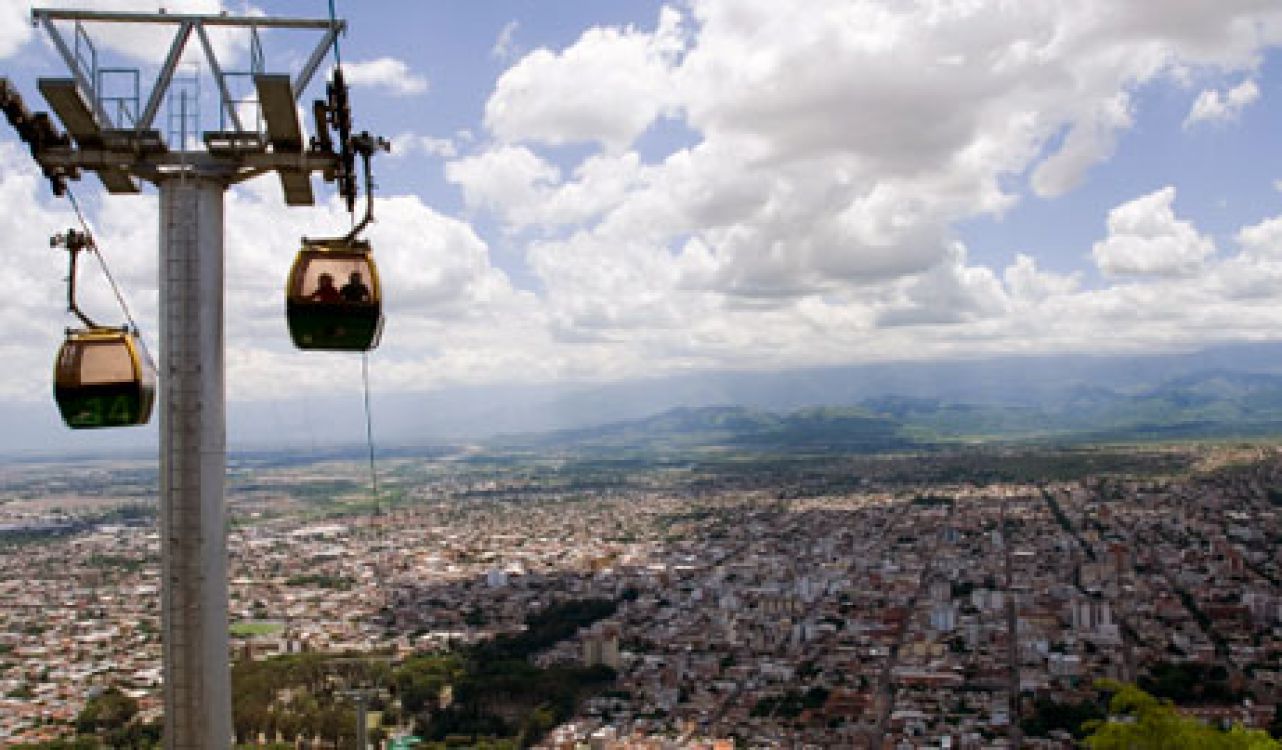
M392 144L368 233L379 394L1282 338L1276 0L336 10L356 127ZM36 79L65 69L28 13L0 0L0 74L45 109ZM88 32L100 65L141 68L144 86L171 33ZM265 33L268 71L296 71L314 42ZM215 46L247 68L244 38ZM305 209L271 177L227 195L231 401L360 387L359 356L296 351L285 327L299 237L350 222L314 185ZM154 346L155 191L73 191ZM0 404L46 403L73 323L49 235L73 215L8 128L0 200ZM91 268L81 285L91 314L118 315Z

